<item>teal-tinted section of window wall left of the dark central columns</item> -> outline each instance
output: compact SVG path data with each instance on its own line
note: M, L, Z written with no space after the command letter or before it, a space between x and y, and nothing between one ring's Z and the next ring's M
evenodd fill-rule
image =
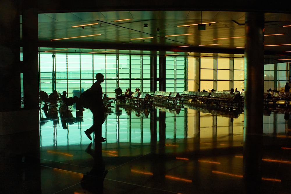
M149 55L39 53L39 88L47 94L79 96L96 81L96 73L106 78L102 88L109 97L115 97L117 87L150 92Z

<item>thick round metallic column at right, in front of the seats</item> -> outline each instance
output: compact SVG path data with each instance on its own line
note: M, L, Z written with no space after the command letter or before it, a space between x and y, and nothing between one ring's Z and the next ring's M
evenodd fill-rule
M245 105L244 181L245 193L260 193L263 90L264 13L245 14Z

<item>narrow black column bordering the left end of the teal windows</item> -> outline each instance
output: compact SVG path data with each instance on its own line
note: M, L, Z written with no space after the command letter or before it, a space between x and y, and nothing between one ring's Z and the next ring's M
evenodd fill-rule
M22 14L24 108L38 109L37 1L26 1Z

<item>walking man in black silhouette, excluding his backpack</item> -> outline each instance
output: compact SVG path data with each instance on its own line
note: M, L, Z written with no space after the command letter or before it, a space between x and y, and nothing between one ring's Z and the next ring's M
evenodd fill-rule
M101 73L96 74L96 82L91 86L90 96L91 105L89 109L91 110L94 121L93 125L85 131L87 137L92 140L91 133L95 132L95 141L104 141L102 138L102 124L105 121L104 112L107 112L107 108L103 104L102 100L102 87L101 83L104 82L104 76Z

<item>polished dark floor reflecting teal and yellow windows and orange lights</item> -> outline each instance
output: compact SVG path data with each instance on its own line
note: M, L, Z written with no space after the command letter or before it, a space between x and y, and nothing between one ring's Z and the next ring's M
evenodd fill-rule
M0 136L0 193L291 193L286 107L264 110L250 138L241 109L112 106L102 143L84 133L90 110L73 106Z

